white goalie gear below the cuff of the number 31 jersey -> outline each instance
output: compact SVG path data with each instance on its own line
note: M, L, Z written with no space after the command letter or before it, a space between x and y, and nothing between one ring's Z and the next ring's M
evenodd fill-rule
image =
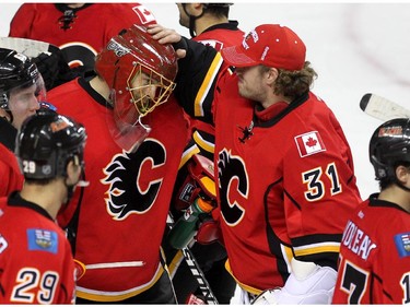
M292 273L282 288L262 292L253 305L331 304L337 272L329 267L292 259Z

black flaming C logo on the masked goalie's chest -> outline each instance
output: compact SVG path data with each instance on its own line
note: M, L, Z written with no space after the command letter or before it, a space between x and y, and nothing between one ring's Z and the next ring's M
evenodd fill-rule
M136 153L122 152L103 169L101 180L109 185L105 198L107 212L114 220L130 214L144 214L157 198L165 164L165 149L156 140L145 140Z

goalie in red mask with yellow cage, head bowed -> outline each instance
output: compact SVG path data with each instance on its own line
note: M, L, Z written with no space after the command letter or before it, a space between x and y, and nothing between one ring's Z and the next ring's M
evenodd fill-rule
M175 303L160 250L187 142L183 109L169 97L174 49L132 25L108 42L95 70L48 93L89 133L90 188L73 199L75 212L59 216L86 268L77 303Z

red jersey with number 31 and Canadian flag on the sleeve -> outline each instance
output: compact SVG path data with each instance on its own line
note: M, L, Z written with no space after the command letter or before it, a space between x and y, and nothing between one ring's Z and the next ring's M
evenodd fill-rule
M175 93L192 115L200 107L196 90L223 61L211 48L188 45L195 50L180 62L185 74ZM277 116L258 118L255 102L239 96L229 68L212 82L213 105L204 111L215 126L214 216L220 213L227 269L255 294L283 286L293 255L336 269L344 225L361 199L335 115L309 92Z

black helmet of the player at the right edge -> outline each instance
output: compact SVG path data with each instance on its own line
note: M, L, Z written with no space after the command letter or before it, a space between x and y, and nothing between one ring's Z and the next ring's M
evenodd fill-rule
M376 178L395 179L398 163L410 164L410 119L396 118L380 125L372 135L368 151Z

